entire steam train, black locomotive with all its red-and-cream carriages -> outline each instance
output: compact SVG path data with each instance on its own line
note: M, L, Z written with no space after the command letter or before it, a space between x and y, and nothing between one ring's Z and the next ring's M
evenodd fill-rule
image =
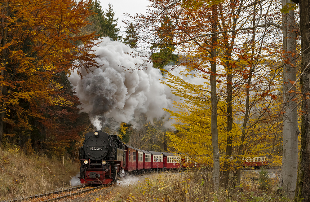
M184 154L137 149L124 144L117 135L97 131L85 135L79 155L81 184L109 184L125 173L149 173L199 165ZM260 164L268 165L267 157L246 159L243 166Z

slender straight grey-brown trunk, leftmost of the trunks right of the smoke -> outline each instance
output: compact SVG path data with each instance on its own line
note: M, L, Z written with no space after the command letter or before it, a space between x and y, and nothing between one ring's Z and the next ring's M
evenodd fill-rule
M217 6L212 6L212 32L217 32ZM217 132L217 104L218 97L216 94L216 43L217 34L212 35L211 44L211 73L210 73L210 88L211 88L211 134L212 134L212 149L213 149L213 185L214 190L219 190L219 138Z

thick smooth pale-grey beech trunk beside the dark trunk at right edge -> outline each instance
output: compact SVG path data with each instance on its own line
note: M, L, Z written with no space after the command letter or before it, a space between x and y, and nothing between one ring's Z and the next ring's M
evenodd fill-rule
M282 0L282 7L290 0ZM298 158L298 122L297 122L297 103L293 100L296 97L296 90L292 82L296 81L296 27L294 10L288 14L282 14L283 22L283 154L280 177L280 187L284 193L292 200L295 195L297 179L297 158ZM286 61L290 61L286 62ZM293 90L293 91L291 91Z

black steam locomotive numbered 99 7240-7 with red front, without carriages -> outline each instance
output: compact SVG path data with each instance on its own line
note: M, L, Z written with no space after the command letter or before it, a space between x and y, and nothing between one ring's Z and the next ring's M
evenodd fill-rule
M87 133L80 147L80 161L81 184L108 184L125 167L125 146L117 135Z

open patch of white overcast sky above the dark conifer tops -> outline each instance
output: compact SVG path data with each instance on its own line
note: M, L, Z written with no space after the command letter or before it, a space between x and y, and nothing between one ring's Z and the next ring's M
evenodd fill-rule
M146 13L148 0L100 0L103 11L108 9L108 4L113 5L113 11L115 12L114 19L118 18L117 28L121 28L121 33L124 35L126 25L122 23L122 19L125 17L124 13L135 15L136 13Z

